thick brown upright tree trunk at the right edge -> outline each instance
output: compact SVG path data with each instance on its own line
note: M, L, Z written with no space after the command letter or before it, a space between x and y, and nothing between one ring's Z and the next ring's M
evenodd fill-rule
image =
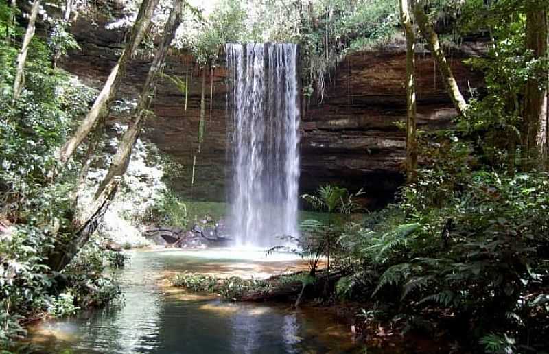
M535 59L547 56L547 10L544 3L541 0L533 1L526 10L526 49L533 52ZM523 171L546 165L547 88L541 86L539 81L539 78L529 78L524 92Z

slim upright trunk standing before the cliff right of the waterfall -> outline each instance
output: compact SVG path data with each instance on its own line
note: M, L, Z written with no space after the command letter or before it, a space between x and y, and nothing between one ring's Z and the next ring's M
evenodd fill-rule
M416 139L416 87L415 46L416 36L408 0L400 0L400 21L406 35L406 182L417 181L417 139Z

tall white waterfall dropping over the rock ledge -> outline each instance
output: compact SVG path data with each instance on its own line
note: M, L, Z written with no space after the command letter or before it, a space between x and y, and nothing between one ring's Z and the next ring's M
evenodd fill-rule
M229 44L231 216L237 246L299 236L299 108L293 44Z

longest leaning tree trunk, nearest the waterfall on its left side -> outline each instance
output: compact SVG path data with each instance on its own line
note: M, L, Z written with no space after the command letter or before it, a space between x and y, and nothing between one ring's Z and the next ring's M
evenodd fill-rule
M180 24L182 8L183 0L173 1L173 8L165 23L163 36L156 48L156 54L154 55L147 78L145 79L145 84L143 85L141 95L139 96L139 102L132 114L132 120L130 121L128 130L126 130L122 136L117 152L113 157L113 161L110 163L108 172L100 186L97 187L97 191L95 191L93 201L89 207L86 208L84 213L82 213L82 218L78 220L79 227L75 232L73 239L68 245L60 245L52 253L49 259L49 265L54 270L62 270L65 268L78 250L86 244L86 241L88 241L89 237L95 232L95 229L100 224L104 213L108 209L110 201L115 197L120 178L126 173L132 153L132 147L135 145L139 133L141 132L143 121L148 115L148 108L150 107L154 96L156 80L158 79L159 72L165 62L170 43L172 43L177 27Z

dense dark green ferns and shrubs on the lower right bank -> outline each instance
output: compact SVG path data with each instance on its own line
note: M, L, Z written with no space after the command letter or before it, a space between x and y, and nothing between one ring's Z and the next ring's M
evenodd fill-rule
M447 309L454 321L474 322L473 338L502 328L516 333L547 315L525 299L547 292L549 176L474 169L463 147L440 149L447 159L404 187L398 207L348 226L342 264L354 275L338 283L338 293L397 303L401 317L416 322L430 309Z

